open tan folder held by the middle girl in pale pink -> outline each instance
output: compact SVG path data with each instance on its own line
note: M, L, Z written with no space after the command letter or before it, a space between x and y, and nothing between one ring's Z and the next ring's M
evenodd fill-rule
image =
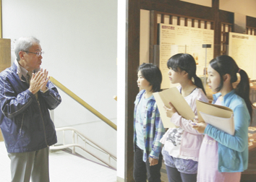
M176 108L179 115L181 115L183 118L192 121L193 118L195 118L195 113L193 112L192 108L190 108L189 104L184 99L184 97L182 97L176 87L163 90L162 92L154 92L153 95L158 105L158 110L161 116L161 120L163 122L163 127L176 128L174 123L171 123L170 118L166 116L166 110L163 108L163 105L169 108L169 103L174 105L174 108Z

